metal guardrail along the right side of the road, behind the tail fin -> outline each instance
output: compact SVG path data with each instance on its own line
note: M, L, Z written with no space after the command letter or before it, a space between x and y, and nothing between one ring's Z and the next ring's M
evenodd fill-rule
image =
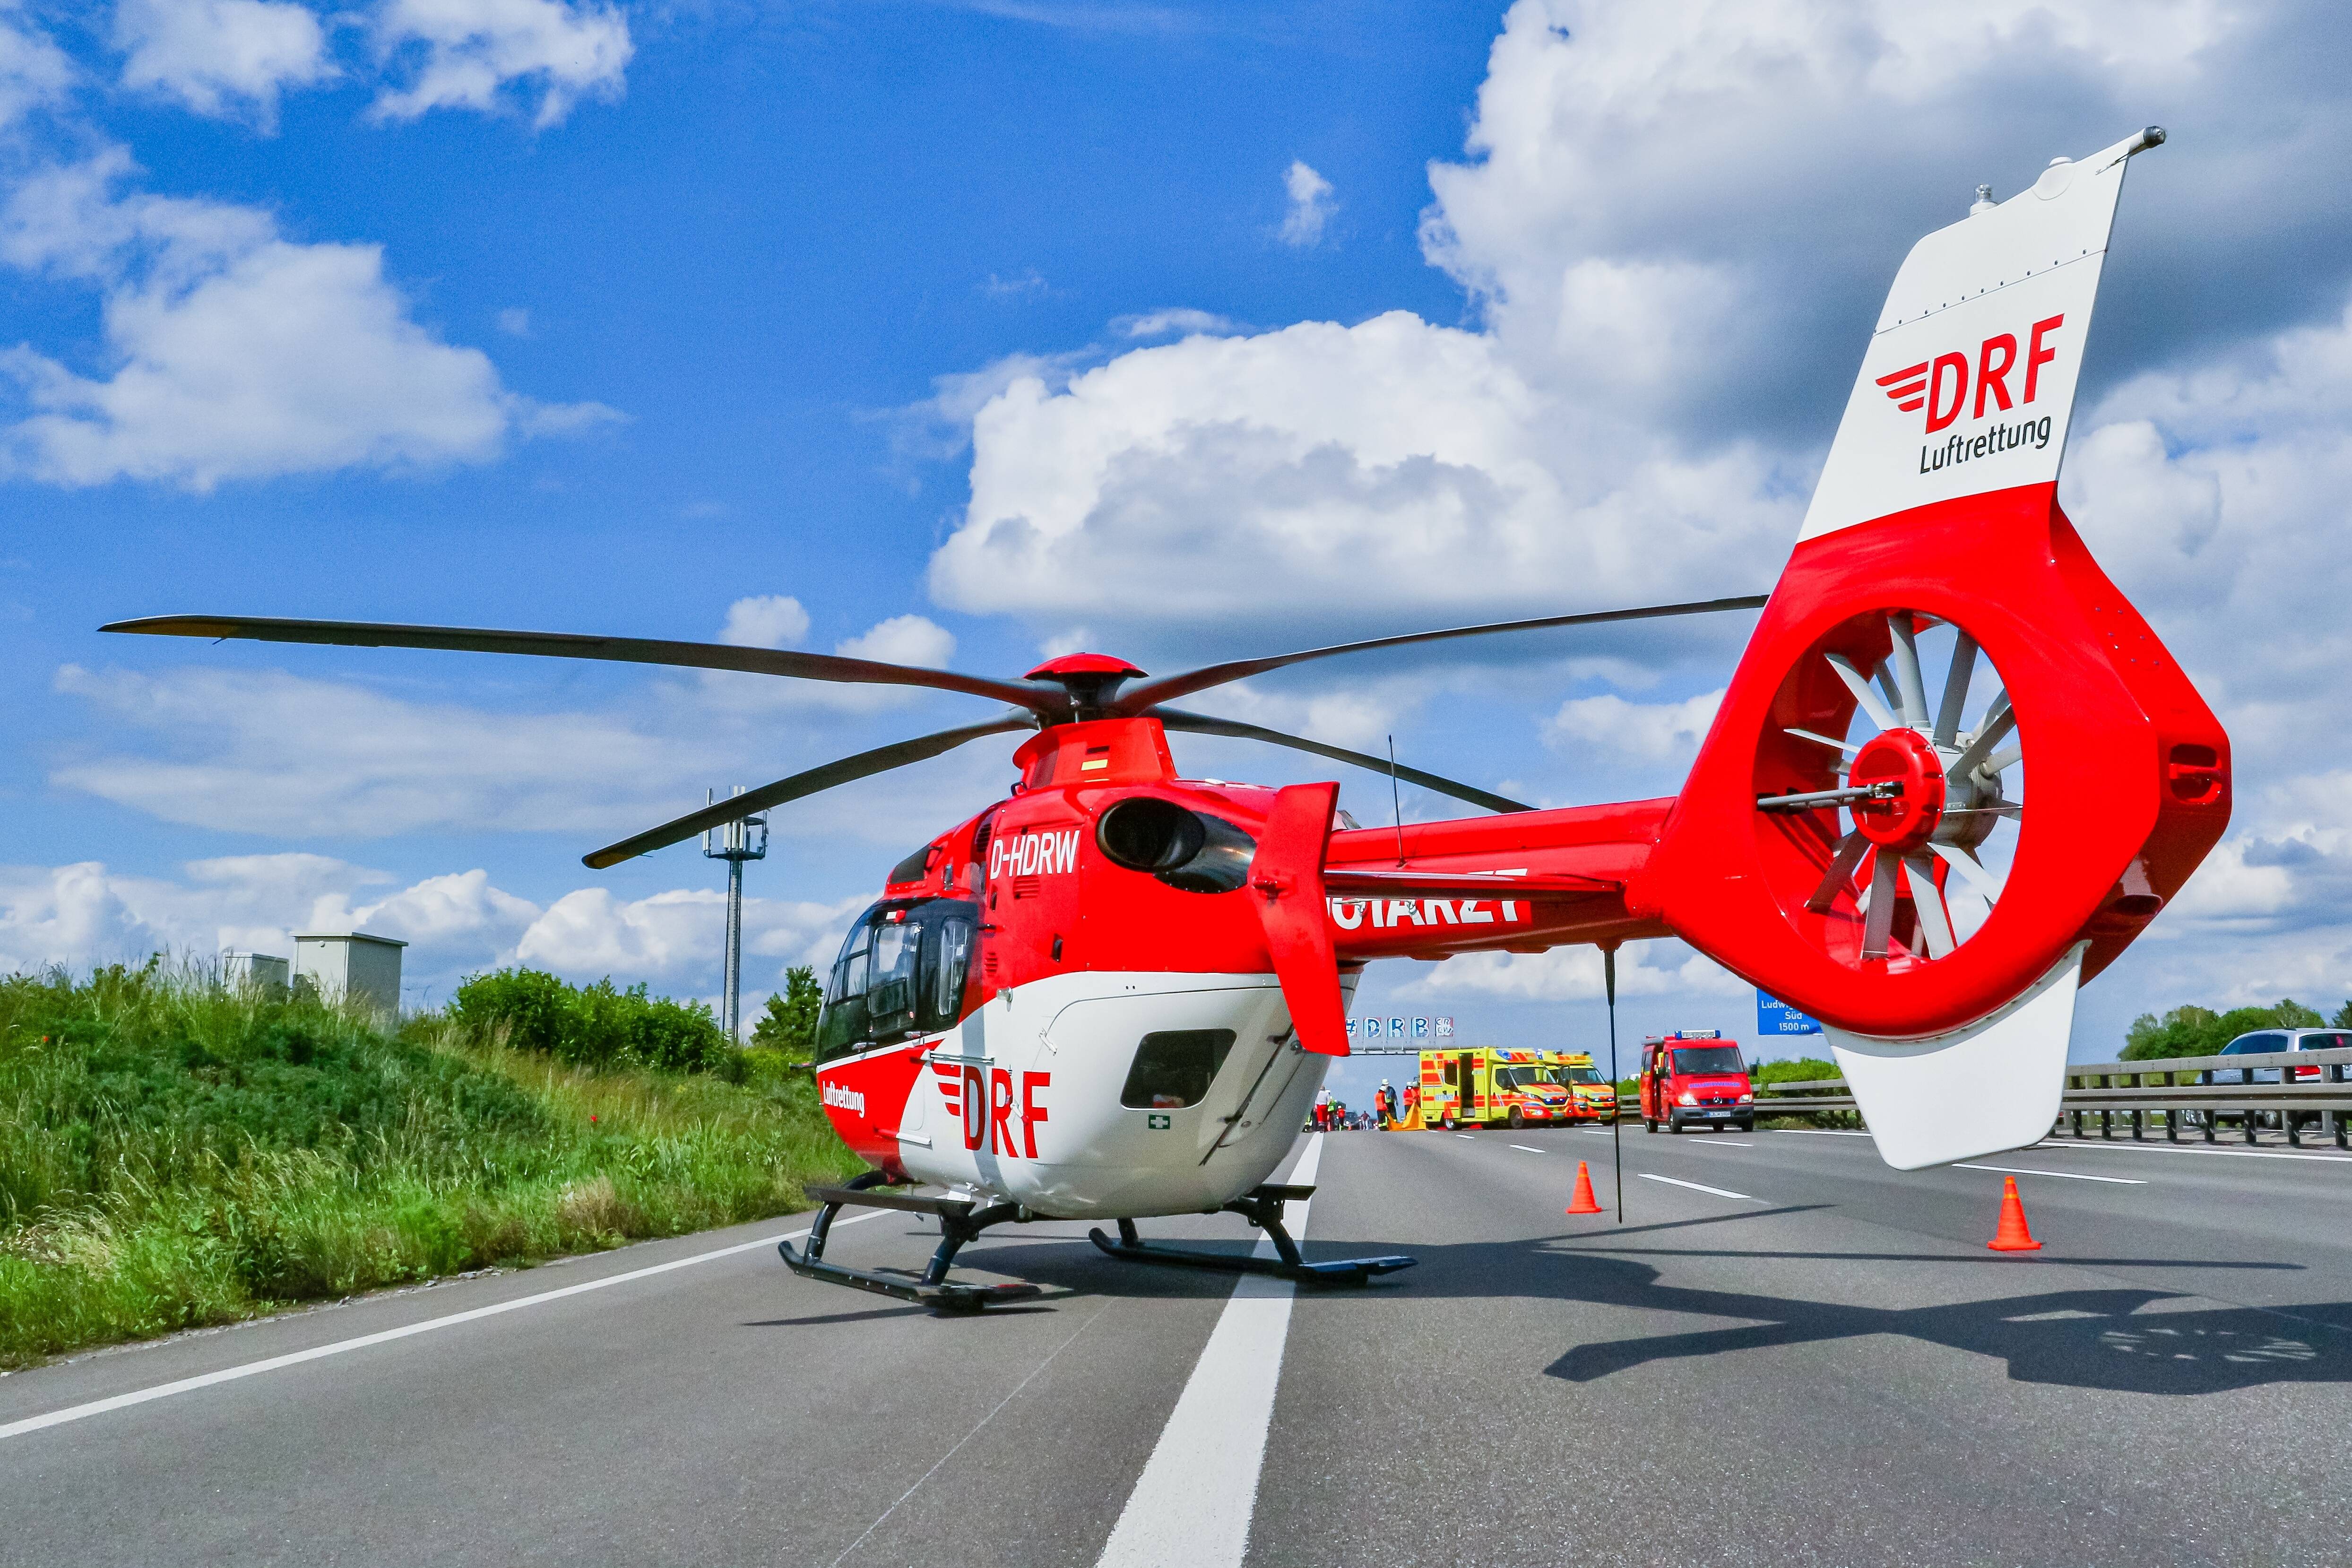
M2307 1070L2312 1077L2296 1077ZM2147 1138L2150 1119L2161 1117L2166 1143L2180 1143L2190 1126L2216 1140L2218 1119L2237 1117L2246 1143L2265 1117L2277 1117L2286 1143L2303 1147L2303 1124L2312 1119L2336 1147L2352 1147L2352 1051L2265 1051L2260 1056L2169 1056L2145 1063L2070 1063L2060 1093L2058 1124L2072 1121L2084 1138L2084 1119L2098 1117L2098 1135L2114 1138L2117 1117L2129 1117L2131 1135ZM2258 1072L2279 1074L2256 1081ZM2117 1081L2124 1079L2124 1081ZM1769 1107L1769 1110L1766 1110ZM1818 1112L1853 1112L1844 1079L1792 1079L1757 1086L1757 1114L1809 1117Z

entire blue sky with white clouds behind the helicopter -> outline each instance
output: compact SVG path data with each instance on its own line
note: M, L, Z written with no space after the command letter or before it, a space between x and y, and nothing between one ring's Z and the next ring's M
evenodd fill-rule
M1018 672L1764 588L1907 244L1980 179L2164 122L2067 501L2230 722L2241 804L2077 1053L2183 999L2333 1006L2343 26L1917 9L0 5L0 961L362 919L414 940L419 999L517 957L713 994L713 867L579 853L976 717L92 632L120 616ZM1362 661L1221 710L1543 802L1663 795L1743 632ZM821 954L1002 752L779 816L748 980ZM1752 1030L1689 959L1630 964L1630 1034ZM1595 992L1564 952L1364 997L1583 1041Z

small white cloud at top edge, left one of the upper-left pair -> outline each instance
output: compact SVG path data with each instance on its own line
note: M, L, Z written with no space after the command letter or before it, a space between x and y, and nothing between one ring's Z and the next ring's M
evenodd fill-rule
M263 125L275 122L280 87L336 75L318 16L280 0L118 0L115 47L132 92Z

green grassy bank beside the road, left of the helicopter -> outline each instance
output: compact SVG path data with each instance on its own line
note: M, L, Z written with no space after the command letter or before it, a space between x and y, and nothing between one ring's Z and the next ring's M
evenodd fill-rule
M807 1074L588 1067L198 971L0 980L0 1366L804 1208Z

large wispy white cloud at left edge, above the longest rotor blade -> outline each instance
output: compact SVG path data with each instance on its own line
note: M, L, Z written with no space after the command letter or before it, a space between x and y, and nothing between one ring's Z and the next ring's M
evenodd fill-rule
M409 317L374 244L296 244L254 207L118 195L122 148L47 169L0 212L0 259L103 294L101 378L19 346L0 371L33 414L5 463L52 484L212 489L334 468L499 456L508 435L612 418L499 386L475 348Z

